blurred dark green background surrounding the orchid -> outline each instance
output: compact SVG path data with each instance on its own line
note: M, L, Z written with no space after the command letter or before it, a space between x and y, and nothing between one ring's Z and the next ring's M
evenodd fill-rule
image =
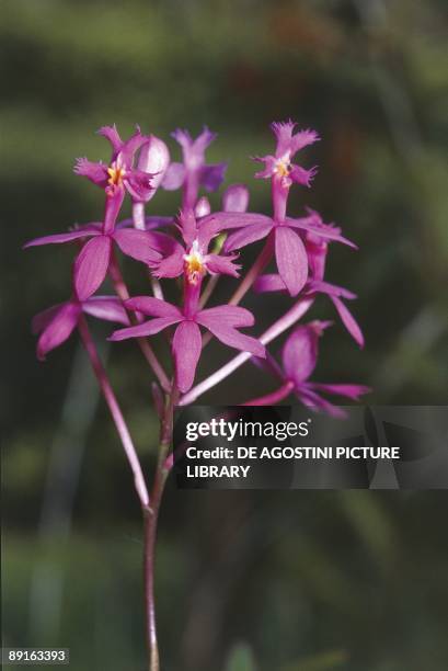
M165 138L209 125L210 159L228 160L229 182L249 183L251 208L267 211L249 157L272 149L271 121L291 117L323 138L305 160L320 166L313 189L295 192L291 212L315 207L360 248L333 246L328 278L359 295L366 349L336 321L315 379L368 384L377 403L445 403L446 3L3 0L1 10L3 645L70 647L73 671L139 670L142 547L127 466L77 339L39 364L30 332L32 315L68 296L72 250L20 248L100 216L99 190L72 164L107 158L94 135L104 124ZM149 212L177 207L179 194L159 193ZM133 291L145 287L140 270L126 265ZM261 323L287 304L246 303ZM313 315L334 317L325 298ZM150 473L150 380L131 343L107 348L111 329L93 328ZM199 376L228 356L210 346ZM203 400L269 388L244 367ZM163 670L447 669L446 503L444 492L170 484L157 567Z

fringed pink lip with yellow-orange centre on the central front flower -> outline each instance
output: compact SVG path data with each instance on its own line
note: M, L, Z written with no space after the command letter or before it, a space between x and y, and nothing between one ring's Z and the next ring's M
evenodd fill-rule
M206 272L211 275L239 276L240 265L233 263L237 254L225 257L208 253L210 240L217 235L212 217L198 223L191 209L182 211L179 216L179 229L185 247L170 239L170 254L150 264L157 277L179 277L185 273L188 282L195 285Z

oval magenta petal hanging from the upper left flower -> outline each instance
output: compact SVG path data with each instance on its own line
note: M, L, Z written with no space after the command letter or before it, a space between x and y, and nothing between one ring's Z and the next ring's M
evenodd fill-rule
M73 277L79 300L87 300L102 284L108 269L111 247L108 236L99 236L89 240L78 254Z

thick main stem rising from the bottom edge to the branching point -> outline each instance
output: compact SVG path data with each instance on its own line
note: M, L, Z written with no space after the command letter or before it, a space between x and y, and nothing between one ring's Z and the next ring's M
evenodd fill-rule
M168 453L172 443L173 413L177 397L179 393L173 386L171 394L166 396L165 407L161 419L159 458L154 476L154 484L151 491L151 504L143 511L143 582L149 671L160 671L154 599L156 539L160 504L162 501L166 477L172 466L172 460L168 457Z

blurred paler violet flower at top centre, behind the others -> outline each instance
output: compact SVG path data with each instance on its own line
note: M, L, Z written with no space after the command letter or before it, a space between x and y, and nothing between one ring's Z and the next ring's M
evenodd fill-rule
M184 185L183 207L194 208L199 186L206 191L216 191L225 178L227 163L206 163L205 150L217 137L207 126L204 126L196 139L180 128L172 136L182 147L183 163L173 162L169 166L162 186L173 191Z

